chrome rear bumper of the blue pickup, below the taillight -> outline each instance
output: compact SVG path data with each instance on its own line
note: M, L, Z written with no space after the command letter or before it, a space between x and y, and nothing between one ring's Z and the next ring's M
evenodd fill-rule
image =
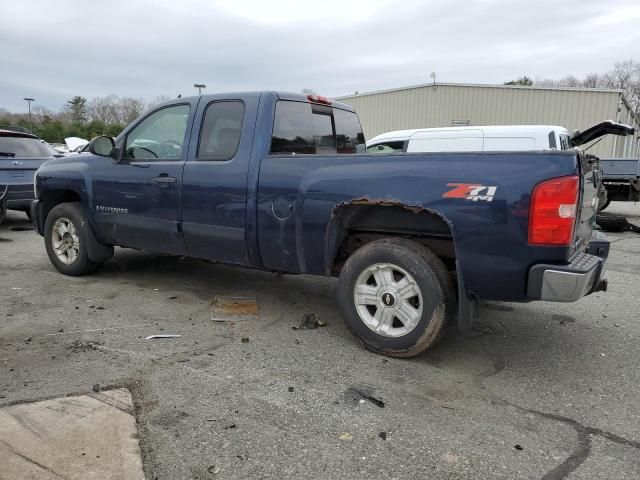
M566 265L538 264L529 269L527 296L532 300L575 302L590 293L606 290L603 280L609 255L609 240L593 232L586 251Z

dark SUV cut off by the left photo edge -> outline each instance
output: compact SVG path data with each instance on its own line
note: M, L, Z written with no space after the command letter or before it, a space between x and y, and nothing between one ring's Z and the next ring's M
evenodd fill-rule
M22 210L30 215L33 175L43 162L53 158L35 135L0 130L0 223L7 209Z

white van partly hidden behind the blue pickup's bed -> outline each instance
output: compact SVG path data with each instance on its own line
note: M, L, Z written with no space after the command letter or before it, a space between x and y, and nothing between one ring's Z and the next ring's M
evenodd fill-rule
M367 142L367 153L509 152L568 150L571 134L557 125L494 125L419 128L382 133Z

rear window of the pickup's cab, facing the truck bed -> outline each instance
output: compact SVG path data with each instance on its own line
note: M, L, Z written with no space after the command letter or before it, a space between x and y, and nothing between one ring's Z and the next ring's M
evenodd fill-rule
M364 152L358 116L330 105L279 100L271 138L272 155L343 155Z

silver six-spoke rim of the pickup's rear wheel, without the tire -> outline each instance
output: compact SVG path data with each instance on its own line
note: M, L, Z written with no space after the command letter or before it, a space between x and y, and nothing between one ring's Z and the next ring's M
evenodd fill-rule
M356 280L353 301L360 320L384 337L407 335L422 318L418 282L391 263L367 267Z

